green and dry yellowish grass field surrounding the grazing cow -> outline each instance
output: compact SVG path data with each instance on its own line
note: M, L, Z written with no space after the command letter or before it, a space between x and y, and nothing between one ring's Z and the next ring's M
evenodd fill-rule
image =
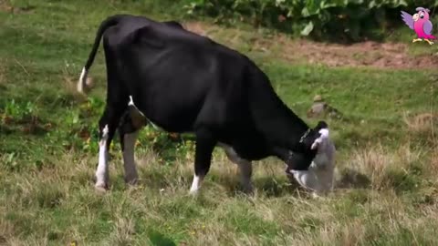
M0 245L438 245L436 69L311 63L286 49L296 41L247 26L183 22L253 58L302 118L316 94L344 114L326 119L339 150L337 189L311 199L284 164L265 159L254 165L255 195L245 196L217 149L191 197L193 143L146 128L141 184L125 186L116 139L110 191L95 191L101 49L89 96L75 84L97 26L116 13L171 18L158 4L121 2L0 0ZM438 51L394 36L411 62Z

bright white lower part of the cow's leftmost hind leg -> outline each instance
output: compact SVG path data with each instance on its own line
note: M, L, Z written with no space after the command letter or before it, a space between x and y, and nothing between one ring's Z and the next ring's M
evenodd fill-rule
M99 164L98 169L96 170L96 184L95 187L98 189L107 189L108 181L110 179L109 170L108 170L108 149L107 149L107 141L108 141L108 133L109 133L108 125L105 125L105 128L102 130L102 138L99 141Z

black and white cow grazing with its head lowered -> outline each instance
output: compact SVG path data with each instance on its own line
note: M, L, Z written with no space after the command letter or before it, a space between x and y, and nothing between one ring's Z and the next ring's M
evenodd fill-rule
M138 179L134 144L147 121L169 132L196 138L195 193L210 169L212 151L222 147L240 168L246 191L252 190L252 160L275 156L287 170L306 170L318 152L316 128L292 112L276 95L266 74L247 56L196 35L177 22L156 22L134 15L113 15L99 26L87 74L103 37L107 102L99 120L96 187L107 189L108 151L116 129L123 149L125 181Z

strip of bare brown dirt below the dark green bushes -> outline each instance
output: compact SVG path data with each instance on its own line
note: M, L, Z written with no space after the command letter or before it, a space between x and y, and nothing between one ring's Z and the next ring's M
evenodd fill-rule
M194 33L222 39L229 46L234 46L235 38L242 36L238 30L235 30L234 34L224 35L222 32L216 34L217 26L199 22L186 23L184 26ZM233 32L232 29L230 31ZM329 67L378 68L434 68L438 64L438 56L409 55L407 44L367 41L353 45L339 45L292 40L281 34L274 38L266 38L256 33L252 35L249 42L253 50L275 53L275 56L290 62L324 64Z

